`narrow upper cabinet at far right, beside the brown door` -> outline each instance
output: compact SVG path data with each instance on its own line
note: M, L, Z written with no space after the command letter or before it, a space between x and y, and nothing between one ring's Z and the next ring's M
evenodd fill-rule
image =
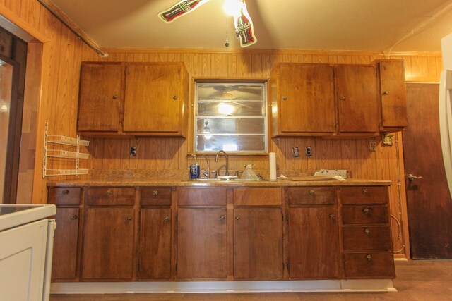
M376 68L379 75L381 130L403 130L408 125L403 60L378 60Z

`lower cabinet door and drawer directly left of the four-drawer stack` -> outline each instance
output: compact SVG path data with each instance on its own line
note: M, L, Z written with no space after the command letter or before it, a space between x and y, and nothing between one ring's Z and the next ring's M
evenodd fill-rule
M290 278L339 278L335 188L290 187L285 195Z

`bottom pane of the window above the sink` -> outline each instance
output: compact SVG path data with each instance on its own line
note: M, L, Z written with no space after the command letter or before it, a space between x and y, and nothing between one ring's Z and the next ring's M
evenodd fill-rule
M196 152L262 152L265 150L265 136L199 135Z

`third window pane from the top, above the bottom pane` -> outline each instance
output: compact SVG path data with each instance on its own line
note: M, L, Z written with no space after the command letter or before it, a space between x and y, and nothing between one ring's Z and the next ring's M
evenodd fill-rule
M262 134L265 133L263 118L207 118L198 119L197 134Z

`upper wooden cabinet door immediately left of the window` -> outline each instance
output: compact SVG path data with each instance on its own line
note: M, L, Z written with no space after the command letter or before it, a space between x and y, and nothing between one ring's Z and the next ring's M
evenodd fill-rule
M179 132L184 95L182 65L126 66L124 131Z

